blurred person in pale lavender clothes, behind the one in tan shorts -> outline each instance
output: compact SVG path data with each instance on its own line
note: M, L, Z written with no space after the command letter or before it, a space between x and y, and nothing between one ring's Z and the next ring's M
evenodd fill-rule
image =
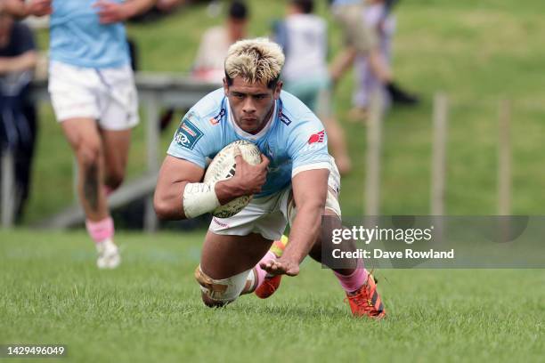
M396 0L368 0L362 14L365 24L377 31L378 49L388 67L391 67L392 64L392 38L396 22L392 7L395 2ZM353 95L354 108L350 111L351 120L364 120L367 117L370 95L376 89L380 89L380 92L383 93L386 104L396 101L395 99L390 100L386 88L370 70L367 55L357 55L354 61L354 70L356 88Z

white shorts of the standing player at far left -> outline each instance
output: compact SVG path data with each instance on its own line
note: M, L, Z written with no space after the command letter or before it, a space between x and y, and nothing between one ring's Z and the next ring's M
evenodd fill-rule
M106 130L126 130L138 124L138 98L130 65L92 69L53 60L48 91L59 122L94 118Z

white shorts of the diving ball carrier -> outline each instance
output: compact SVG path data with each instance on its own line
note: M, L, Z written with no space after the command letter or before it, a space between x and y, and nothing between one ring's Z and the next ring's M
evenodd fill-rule
M321 168L321 166L315 168ZM305 170L313 170L313 165L304 167L301 171ZM341 211L338 204L340 175L333 157L330 157L329 161L328 186L325 207L340 217ZM248 236L250 233L257 233L266 239L279 240L288 222L293 222L295 218L296 211L293 205L293 193L289 185L270 196L253 198L248 206L232 217L213 217L208 230L218 235L229 236Z

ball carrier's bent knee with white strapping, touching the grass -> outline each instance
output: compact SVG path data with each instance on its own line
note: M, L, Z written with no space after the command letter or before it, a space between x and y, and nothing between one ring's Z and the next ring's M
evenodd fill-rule
M208 307L221 307L234 302L246 285L249 270L230 278L210 278L200 269L195 270L195 279L200 285L202 302Z

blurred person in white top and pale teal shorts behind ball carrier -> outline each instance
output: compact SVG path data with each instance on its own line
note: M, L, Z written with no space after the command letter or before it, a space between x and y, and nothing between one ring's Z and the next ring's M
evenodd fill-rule
M286 63L282 70L284 90L320 117L328 133L331 153L341 174L348 173L352 162L346 150L343 129L333 115L327 63L328 25L313 14L313 0L291 0L288 16L273 28L275 41L282 46Z

